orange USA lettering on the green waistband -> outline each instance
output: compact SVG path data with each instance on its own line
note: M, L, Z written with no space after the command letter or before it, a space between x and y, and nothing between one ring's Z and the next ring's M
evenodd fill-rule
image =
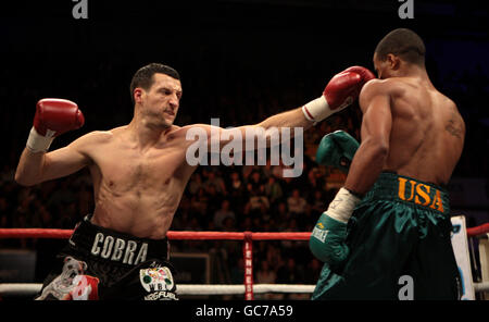
M444 193L440 193L439 189L414 179L398 177L398 181L399 199L444 212L443 199L441 197L441 194Z

